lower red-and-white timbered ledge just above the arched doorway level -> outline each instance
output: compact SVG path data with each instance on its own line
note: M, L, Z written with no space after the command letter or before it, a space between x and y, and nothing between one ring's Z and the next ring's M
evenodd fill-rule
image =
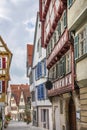
M53 82L53 89L48 90L48 96L57 96L59 94L67 93L73 90L72 73Z

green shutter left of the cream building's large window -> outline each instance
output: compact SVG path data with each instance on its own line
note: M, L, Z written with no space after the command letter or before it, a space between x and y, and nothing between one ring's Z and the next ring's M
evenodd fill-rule
M74 39L74 55L75 59L79 57L79 37L78 35Z

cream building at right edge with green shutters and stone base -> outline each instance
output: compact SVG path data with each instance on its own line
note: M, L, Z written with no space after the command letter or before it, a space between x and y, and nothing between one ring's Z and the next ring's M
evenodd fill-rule
M80 130L87 130L87 0L68 0L68 29L74 35L76 82L80 88Z

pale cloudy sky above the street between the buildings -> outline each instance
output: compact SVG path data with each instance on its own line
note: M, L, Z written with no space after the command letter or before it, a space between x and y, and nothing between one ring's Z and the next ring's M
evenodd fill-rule
M0 0L0 35L13 53L12 84L28 83L26 45L33 43L39 0Z

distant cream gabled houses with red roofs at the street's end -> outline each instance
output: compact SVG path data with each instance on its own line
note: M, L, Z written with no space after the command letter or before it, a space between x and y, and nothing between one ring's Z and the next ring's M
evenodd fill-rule
M11 84L10 87L11 87L11 99L10 99L11 118L12 120L27 121L28 120L27 119L28 113L26 111L27 106L31 114L30 111L31 96L29 85Z

